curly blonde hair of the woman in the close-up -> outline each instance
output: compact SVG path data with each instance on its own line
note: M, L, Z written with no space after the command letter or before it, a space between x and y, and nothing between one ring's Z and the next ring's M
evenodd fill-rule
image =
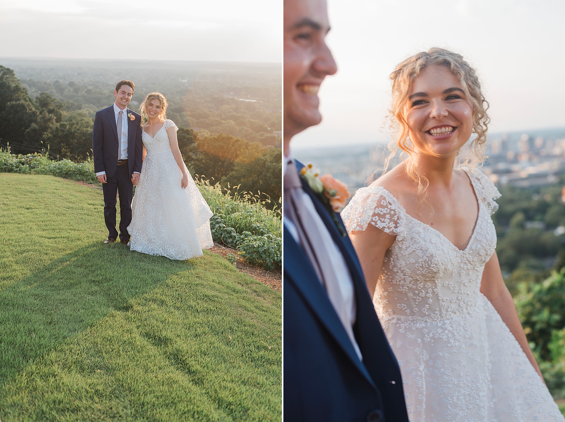
M402 151L403 160L406 163L406 174L418 184L418 198L425 201L426 190L429 185L427 177L418 171L416 167L416 151L408 137L409 128L405 119L408 97L412 90L412 81L416 79L421 71L432 65L445 66L461 82L463 91L470 99L473 106L473 133L475 138L471 141L467 154L459 157L459 166L466 165L470 168L483 163L485 159L486 130L490 119L486 110L489 103L486 101L481 84L473 69L463 56L453 51L433 47L428 51L421 51L398 64L394 72L390 73L392 80L392 106L389 110L389 127L396 133L396 140L390 142L390 154L385 160L385 171L390 160Z

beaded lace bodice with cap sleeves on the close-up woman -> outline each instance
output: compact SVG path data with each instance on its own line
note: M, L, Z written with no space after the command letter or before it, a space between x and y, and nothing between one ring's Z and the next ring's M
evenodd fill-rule
M441 320L476 307L483 268L496 247L490 215L498 208L494 199L500 194L482 172L466 172L479 199L479 215L464 250L408 215L397 199L379 186L359 189L342 211L349 232L373 224L396 234L375 292L379 314Z

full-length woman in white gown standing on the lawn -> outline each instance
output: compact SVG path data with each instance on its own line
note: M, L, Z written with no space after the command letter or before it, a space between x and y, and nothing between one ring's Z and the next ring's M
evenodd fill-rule
M167 99L148 94L140 106L144 162L128 227L131 250L170 259L201 256L214 245L212 212L182 161L176 127L167 120Z

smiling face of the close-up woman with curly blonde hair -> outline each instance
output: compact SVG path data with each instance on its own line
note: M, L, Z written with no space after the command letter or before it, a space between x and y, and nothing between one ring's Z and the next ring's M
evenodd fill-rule
M404 117L416 151L457 154L473 129L473 106L458 77L444 66L425 67L409 95Z

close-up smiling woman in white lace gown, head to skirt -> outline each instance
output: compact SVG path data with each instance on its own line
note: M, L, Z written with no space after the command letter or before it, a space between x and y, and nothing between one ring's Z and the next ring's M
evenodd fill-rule
M475 168L489 118L474 69L433 48L390 78L407 158L341 216L401 367L410 420L563 421L494 251L500 194Z

